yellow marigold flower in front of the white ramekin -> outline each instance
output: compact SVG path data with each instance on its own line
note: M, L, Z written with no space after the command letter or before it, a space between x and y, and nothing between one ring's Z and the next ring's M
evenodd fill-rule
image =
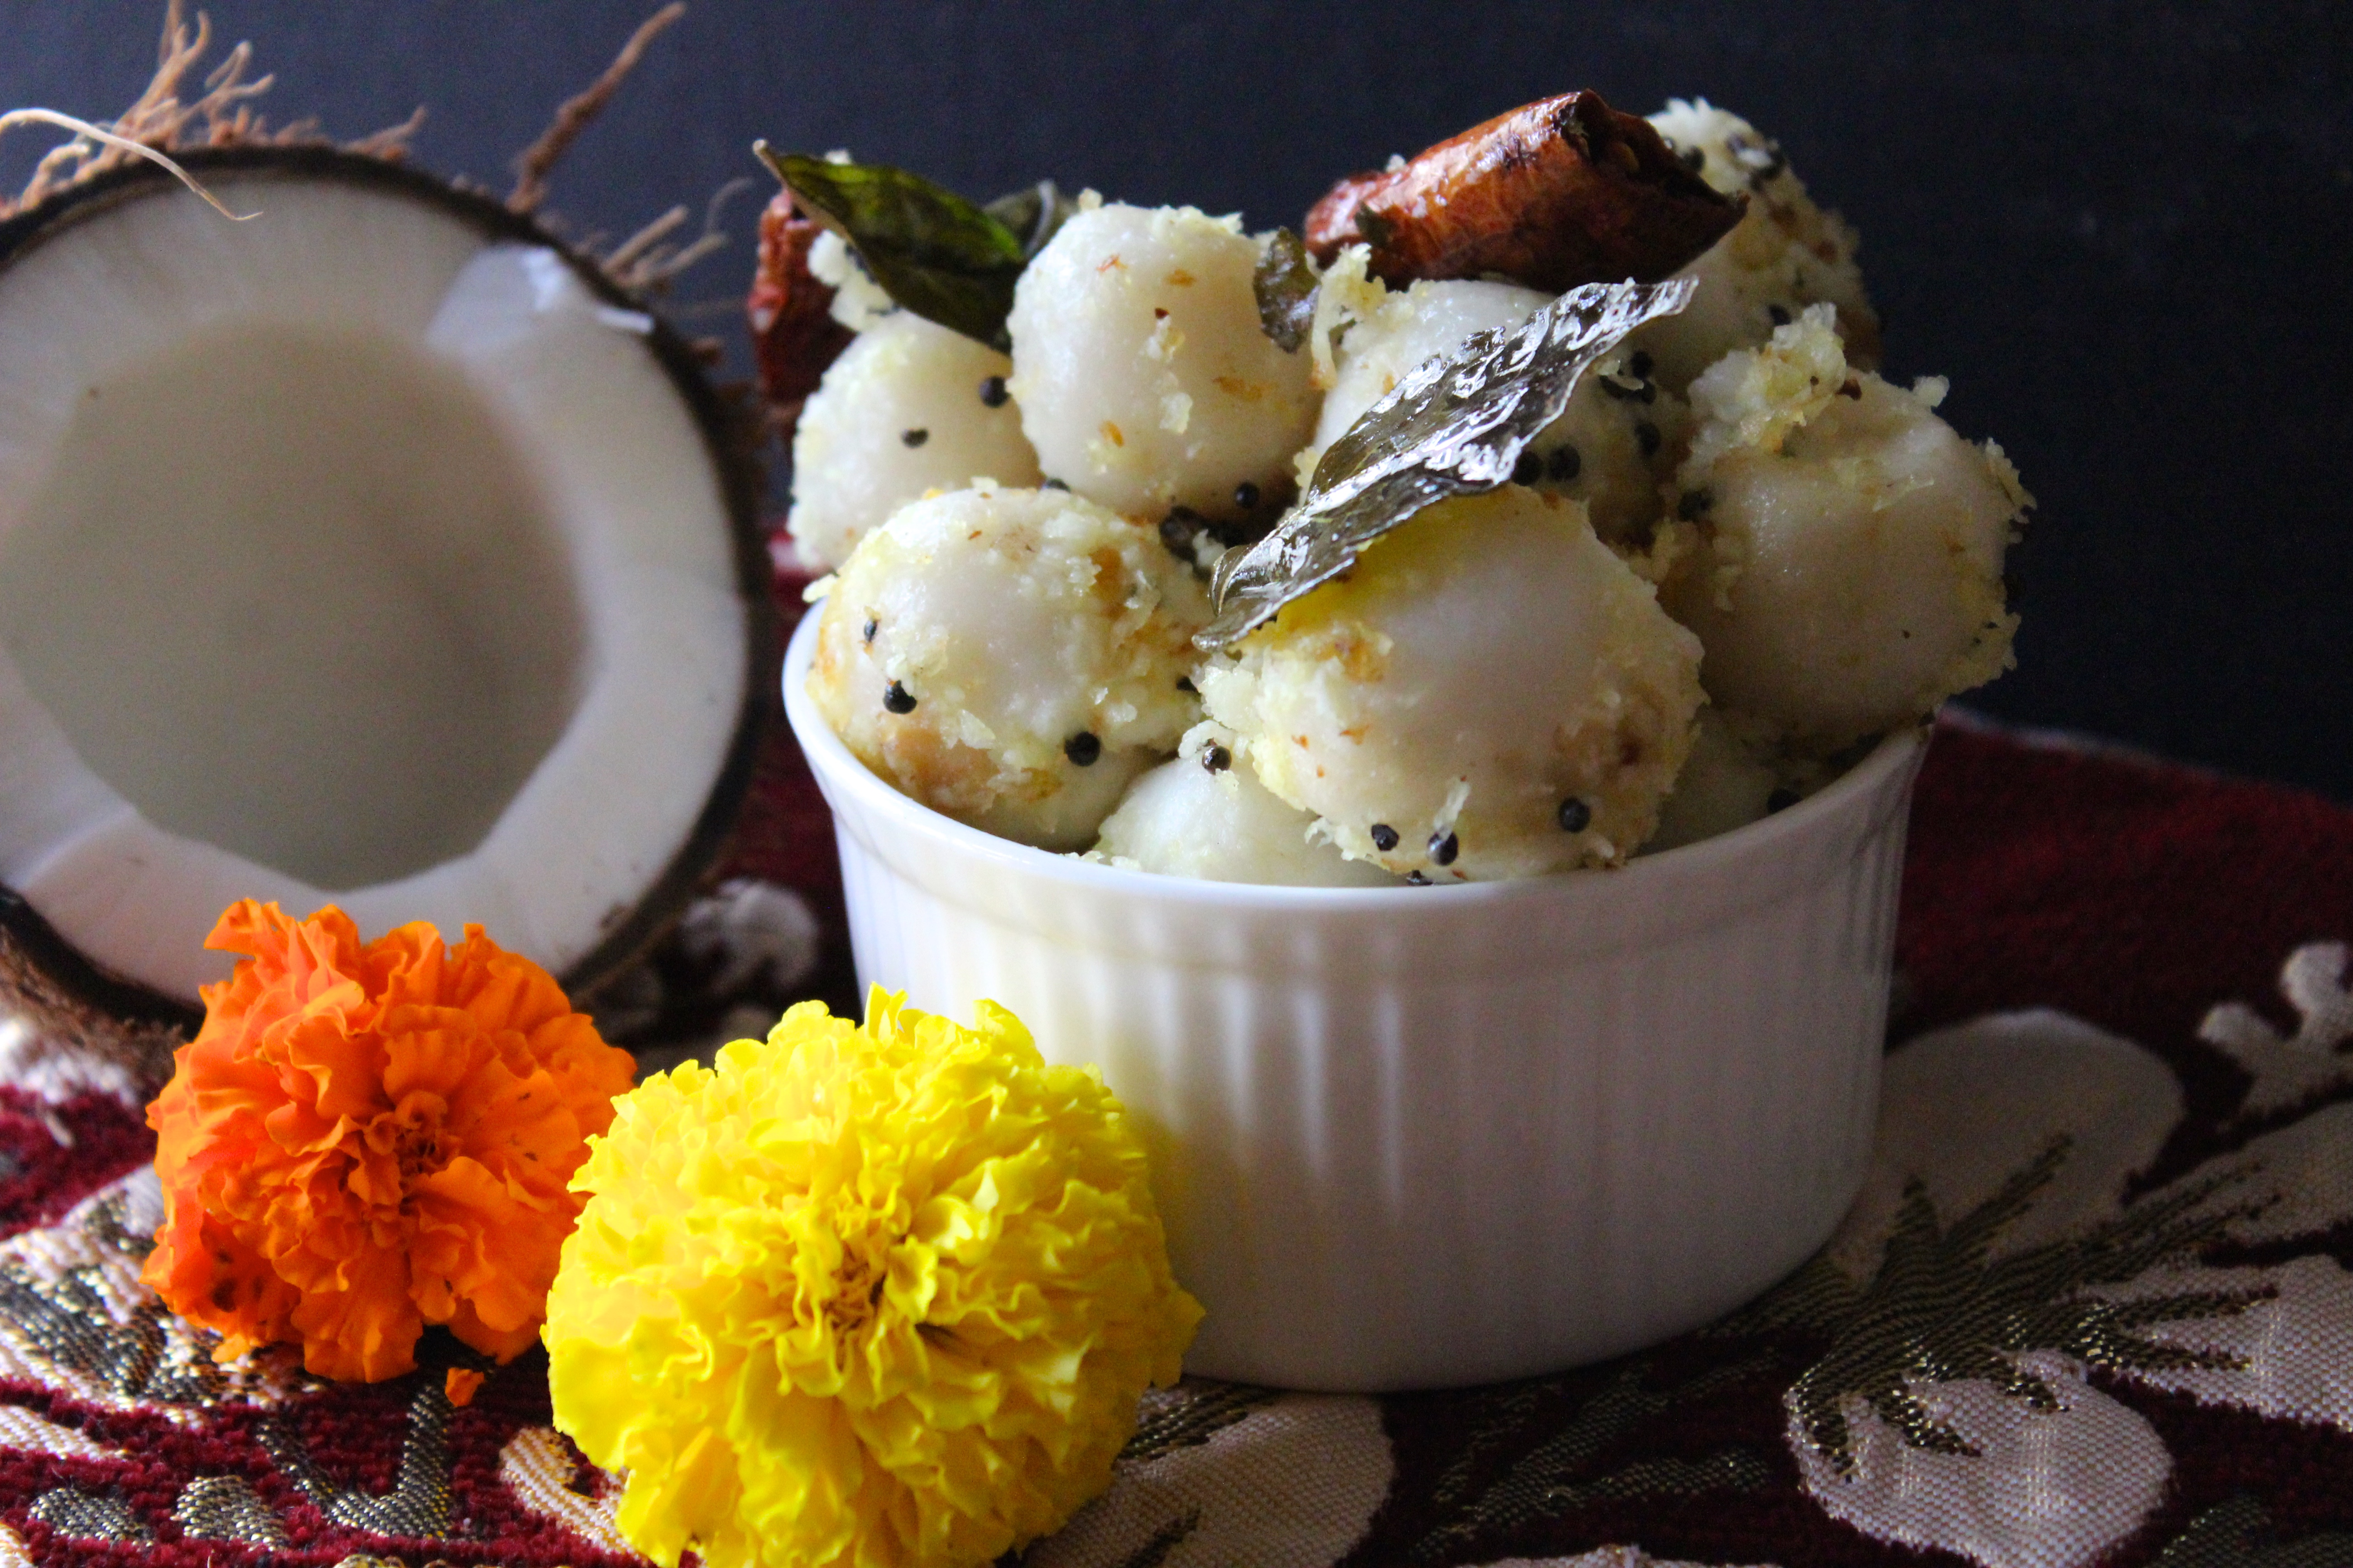
M654 1561L986 1563L1104 1490L1176 1380L1200 1305L1134 1128L976 1011L805 1001L591 1145L548 1385Z

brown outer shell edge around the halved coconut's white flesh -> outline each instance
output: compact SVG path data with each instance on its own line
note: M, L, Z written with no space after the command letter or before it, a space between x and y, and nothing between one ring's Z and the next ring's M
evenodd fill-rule
M767 534L760 524L762 468L758 449L765 437L760 414L722 395L711 383L696 346L647 310L647 301L626 292L593 259L548 233L534 216L513 212L482 190L442 181L405 162L327 143L191 148L174 150L174 158L198 181L205 181L207 174L268 174L287 181L339 181L414 200L459 219L489 242L544 244L562 256L600 301L654 317L654 329L645 341L704 433L704 447L711 454L732 524L736 590L751 625L744 649L744 708L687 842L645 896L635 905L616 905L607 914L598 943L558 976L579 1004L635 964L718 867L751 788L760 736L776 708L781 654L776 611L769 599ZM78 223L101 212L174 190L181 190L179 181L148 162L125 165L59 190L0 221L0 270L42 244L71 237ZM299 910L299 914L308 914L308 910ZM198 997L167 997L101 969L49 926L31 900L0 886L0 1013L5 1011L24 1016L56 1044L94 1051L155 1081L172 1072L172 1051L191 1039L202 1020Z

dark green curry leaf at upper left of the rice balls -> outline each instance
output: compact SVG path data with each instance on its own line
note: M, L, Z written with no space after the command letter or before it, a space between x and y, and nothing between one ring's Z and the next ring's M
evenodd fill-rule
M753 150L812 219L856 249L901 308L991 348L1012 348L1005 317L1033 252L1005 219L906 169L776 153L765 141ZM1028 214L1035 230L1049 212L1045 190L1014 200L1021 197L1038 200Z

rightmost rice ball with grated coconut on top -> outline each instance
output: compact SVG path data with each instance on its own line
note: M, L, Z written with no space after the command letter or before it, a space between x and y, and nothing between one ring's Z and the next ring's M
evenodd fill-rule
M2009 668L2002 552L2033 498L1941 397L1849 371L1828 306L1692 383L1701 543L1666 602L1718 705L1826 752Z

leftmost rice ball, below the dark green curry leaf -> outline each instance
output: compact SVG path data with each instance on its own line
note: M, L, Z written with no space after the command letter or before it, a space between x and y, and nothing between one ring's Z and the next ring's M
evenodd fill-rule
M932 489L1038 484L1007 376L1012 360L911 310L854 336L793 433L786 527L800 557L840 567L868 529Z

